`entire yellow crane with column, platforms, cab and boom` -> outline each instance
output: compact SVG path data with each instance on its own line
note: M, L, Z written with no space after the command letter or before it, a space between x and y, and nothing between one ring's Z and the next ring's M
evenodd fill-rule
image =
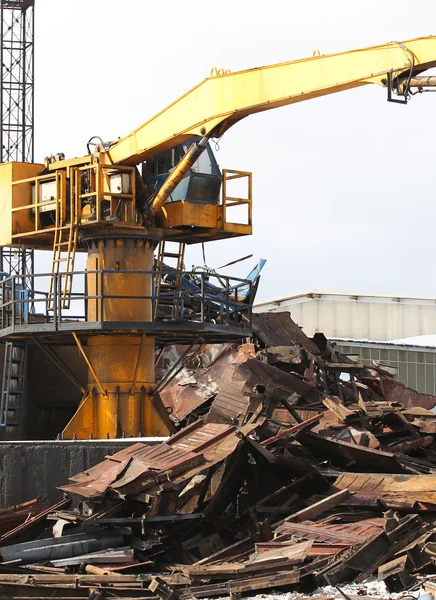
M20 297L13 278L1 282L0 336L40 344L74 340L89 368L64 438L166 434L168 419L153 396L156 340L244 335L246 321L236 318L242 314L235 308L241 304L238 286L231 299L228 281L221 301L204 278L197 298L188 288L186 296L200 305L190 319L173 313L159 319L156 310L160 269L170 255L162 250L165 241L180 244L180 275L184 244L252 232L251 173L221 172L209 140L251 114L368 84L386 88L388 100L406 103L412 85L434 85L421 76L434 66L436 37L423 37L235 73L215 70L119 141L90 140L86 156L0 165L0 245L53 252L48 290L40 299L45 310L36 311L44 318L26 317L29 299ZM235 179L246 182L246 194L230 195ZM231 220L236 206L246 209L245 222ZM158 244L162 260L155 265ZM75 294L76 251L87 252L87 266L85 290ZM178 282L179 306L181 279L172 281ZM84 304L81 318L71 314L77 299ZM224 306L227 318L208 318L212 304L218 313Z

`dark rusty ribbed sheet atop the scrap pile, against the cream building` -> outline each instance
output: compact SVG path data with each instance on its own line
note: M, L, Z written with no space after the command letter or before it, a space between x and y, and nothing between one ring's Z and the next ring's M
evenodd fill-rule
M291 319L288 311L253 313L253 331L265 346L297 344L312 354L320 354L318 346Z

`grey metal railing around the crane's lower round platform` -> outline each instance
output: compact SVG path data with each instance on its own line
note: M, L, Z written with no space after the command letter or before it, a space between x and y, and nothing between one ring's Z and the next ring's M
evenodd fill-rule
M75 271L71 302L63 307L63 279L69 273L54 274L53 297L49 302L52 274L14 275L0 281L0 335L16 330L56 331L110 323L124 328L147 329L161 323L163 328L191 323L223 327L251 327L253 283L246 279L202 271L165 271L159 294L156 271L96 270ZM172 281L182 276L182 287L174 292ZM33 291L23 290L23 279L33 279ZM124 292L126 290L126 292ZM176 302L177 312L166 307ZM50 310L49 310L50 308ZM171 317L167 315L171 313ZM174 317L173 315L176 314ZM189 326L188 326L189 327ZM156 327L155 327L156 328Z

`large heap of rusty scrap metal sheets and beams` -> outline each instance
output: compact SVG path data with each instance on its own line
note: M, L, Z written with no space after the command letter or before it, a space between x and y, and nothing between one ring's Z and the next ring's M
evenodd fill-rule
M2 598L394 592L434 573L436 397L289 313L253 321L253 343L162 354L167 441L77 474L54 507L0 511Z

